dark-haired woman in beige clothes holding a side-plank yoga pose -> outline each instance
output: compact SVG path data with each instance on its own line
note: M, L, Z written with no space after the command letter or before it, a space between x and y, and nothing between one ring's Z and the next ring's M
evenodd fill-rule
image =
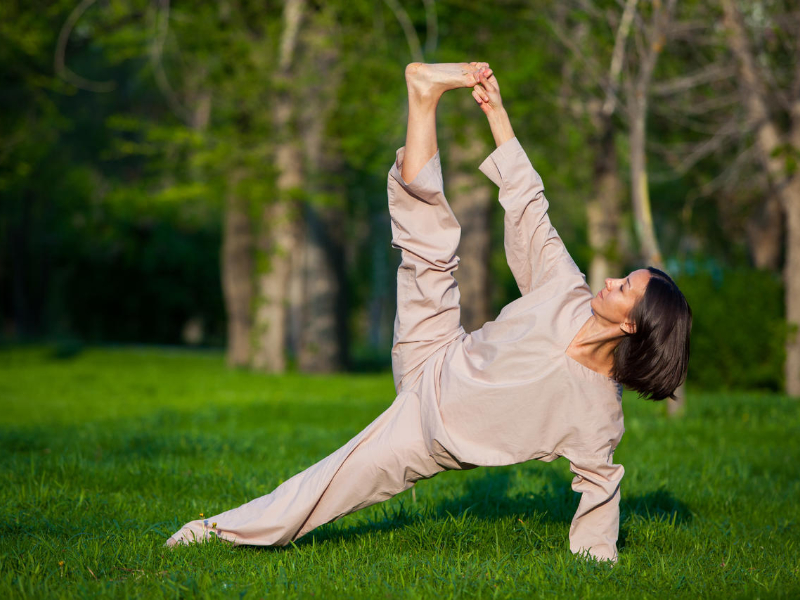
M503 109L486 63L406 68L406 145L388 178L392 245L401 250L392 349L397 398L329 457L239 508L184 525L168 545L209 535L286 545L448 469L563 456L582 497L570 549L617 559L614 449L622 386L654 399L683 381L691 311L656 269L608 279L592 296L547 216L541 178ZM460 228L442 190L436 106L472 88L497 149L480 169L500 188L505 249L522 297L467 334L453 271Z

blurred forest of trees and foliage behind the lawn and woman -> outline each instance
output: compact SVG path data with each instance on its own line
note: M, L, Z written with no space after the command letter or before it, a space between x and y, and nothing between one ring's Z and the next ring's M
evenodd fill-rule
M389 367L411 61L485 60L592 288L643 263L689 382L800 395L800 9L764 0L5 0L5 343ZM468 92L439 109L467 330L518 296Z

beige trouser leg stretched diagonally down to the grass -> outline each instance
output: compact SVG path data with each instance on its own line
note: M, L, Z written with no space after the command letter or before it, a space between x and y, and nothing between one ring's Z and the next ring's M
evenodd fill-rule
M419 398L403 393L386 412L327 458L266 496L187 523L168 544L216 535L237 544L283 546L443 470L430 456L423 439Z

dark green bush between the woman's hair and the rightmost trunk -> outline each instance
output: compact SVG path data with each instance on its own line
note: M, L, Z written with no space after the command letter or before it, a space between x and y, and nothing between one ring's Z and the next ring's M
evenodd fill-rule
M706 268L677 283L693 312L689 382L710 390L783 389L788 330L780 277Z

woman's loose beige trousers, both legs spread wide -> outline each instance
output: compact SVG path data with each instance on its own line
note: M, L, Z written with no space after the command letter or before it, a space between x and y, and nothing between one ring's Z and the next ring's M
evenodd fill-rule
M237 544L286 545L320 525L387 500L420 479L470 466L426 439L422 400L413 385L426 361L463 334L452 276L458 264L460 228L444 197L438 154L410 185L400 176L402 158L401 149L388 178L392 244L402 255L392 350L399 395L327 458L266 496L187 523L168 545L203 541L211 535Z

